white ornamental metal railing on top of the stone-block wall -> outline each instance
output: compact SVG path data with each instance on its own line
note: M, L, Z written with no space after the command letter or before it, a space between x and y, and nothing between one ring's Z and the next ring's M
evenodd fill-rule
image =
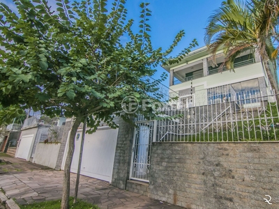
M166 110L166 116L179 117L157 121L156 141L279 140L279 95L265 89L241 92L240 95L236 93L236 98L228 97L209 103L211 97L208 96L208 103L204 105Z

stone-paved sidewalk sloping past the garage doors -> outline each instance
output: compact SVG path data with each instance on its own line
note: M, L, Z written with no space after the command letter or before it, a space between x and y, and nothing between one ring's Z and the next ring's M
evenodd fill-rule
M41 167L40 165L30 164L30 162L13 157L0 158L10 162L13 161L17 165L18 171L15 171L13 164L10 164L9 167L12 171L0 175L0 187L2 187L10 198L15 198L17 203L24 205L34 201L61 199L63 171L45 169L45 167ZM28 167L32 169L28 169ZM74 195L75 177L76 174L71 173L70 196ZM141 194L118 189L105 181L86 176L80 176L78 197L96 204L102 209L181 208L150 199Z

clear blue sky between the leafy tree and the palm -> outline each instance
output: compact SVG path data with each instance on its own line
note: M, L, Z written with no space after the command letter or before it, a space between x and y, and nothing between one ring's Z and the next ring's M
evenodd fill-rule
M140 21L140 3L149 2L149 8L152 11L150 17L151 25L151 40L153 47L163 47L167 49L172 44L174 36L180 30L186 32L186 36L181 40L179 45L171 54L175 56L181 50L189 45L189 43L196 38L199 43L198 47L204 46L204 28L206 27L207 18L216 10L223 0L128 0L126 8L128 8L128 18L135 20L135 26ZM137 29L135 27L135 29ZM161 67L156 68L158 72L154 78L157 78L164 72ZM169 81L163 82L169 86Z

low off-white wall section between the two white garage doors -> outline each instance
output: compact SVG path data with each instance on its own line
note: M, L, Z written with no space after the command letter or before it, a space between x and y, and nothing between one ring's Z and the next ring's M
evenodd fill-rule
M38 143L33 157L33 163L55 169L61 144Z

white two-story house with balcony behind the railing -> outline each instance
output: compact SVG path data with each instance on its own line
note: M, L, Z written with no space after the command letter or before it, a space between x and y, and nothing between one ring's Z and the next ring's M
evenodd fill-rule
M222 51L216 61L206 47L196 49L174 65L165 65L169 72L169 88L179 93L176 108L197 107L220 102L238 101L242 107L259 105L257 98L273 94L266 69L257 54L247 51L234 61L234 71L220 69ZM276 63L269 61L271 74L276 78Z

